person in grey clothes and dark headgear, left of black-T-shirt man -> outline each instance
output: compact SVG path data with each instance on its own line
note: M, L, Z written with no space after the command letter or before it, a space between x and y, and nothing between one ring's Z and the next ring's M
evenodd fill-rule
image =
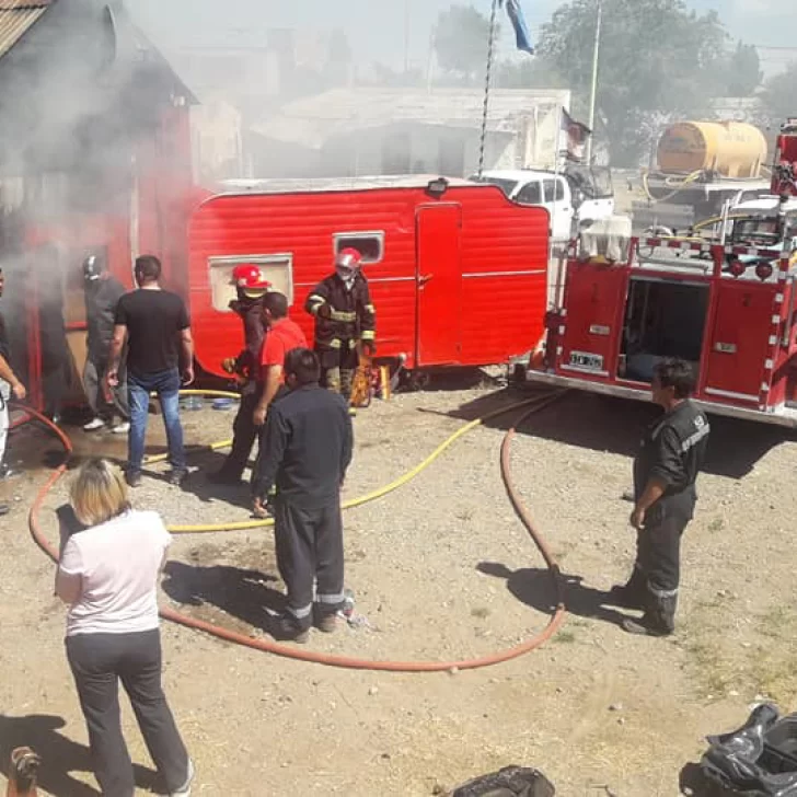
M89 327L83 390L93 413L83 430L94 431L109 425L115 435L127 435L130 430L130 409L124 367L119 368L119 385L109 395L105 393L104 382L111 359L111 343L114 339L116 305L125 294L125 287L111 275L100 255L89 255L83 261L83 294ZM114 415L120 418L115 426L112 425Z

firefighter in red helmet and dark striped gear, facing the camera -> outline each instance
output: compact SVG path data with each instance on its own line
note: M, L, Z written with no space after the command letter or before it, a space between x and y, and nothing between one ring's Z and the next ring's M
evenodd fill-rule
M335 274L315 286L304 305L315 317L323 385L346 403L351 399L359 347L369 357L376 354L376 311L361 266L357 250L343 250L335 258Z

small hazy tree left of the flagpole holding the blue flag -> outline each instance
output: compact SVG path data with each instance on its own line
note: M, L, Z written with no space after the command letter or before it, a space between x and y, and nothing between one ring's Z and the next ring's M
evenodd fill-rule
M489 20L472 5L452 5L440 12L435 27L435 51L439 65L473 80L487 63Z

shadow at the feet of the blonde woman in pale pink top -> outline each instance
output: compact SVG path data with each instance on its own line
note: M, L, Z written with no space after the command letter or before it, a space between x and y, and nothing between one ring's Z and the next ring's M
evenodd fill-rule
M76 697L77 700L77 697ZM9 776L11 751L30 747L42 756L38 785L54 795L63 797L95 797L100 794L71 776L72 772L92 772L89 748L58 732L66 726L61 717L30 715L8 717L0 715L0 772ZM158 774L145 766L134 766L139 788L159 787Z

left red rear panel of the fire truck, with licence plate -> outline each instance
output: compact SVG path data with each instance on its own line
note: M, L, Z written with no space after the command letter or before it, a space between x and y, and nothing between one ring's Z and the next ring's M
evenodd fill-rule
M562 371L614 376L627 287L625 268L592 263L568 267Z

